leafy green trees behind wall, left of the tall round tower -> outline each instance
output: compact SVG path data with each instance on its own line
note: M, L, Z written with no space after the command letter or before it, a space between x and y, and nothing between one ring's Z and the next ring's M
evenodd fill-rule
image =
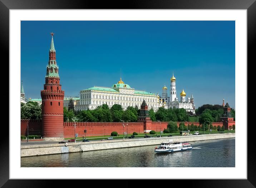
M30 120L41 120L42 119L41 106L36 102L28 102L26 104L21 103L20 118Z

